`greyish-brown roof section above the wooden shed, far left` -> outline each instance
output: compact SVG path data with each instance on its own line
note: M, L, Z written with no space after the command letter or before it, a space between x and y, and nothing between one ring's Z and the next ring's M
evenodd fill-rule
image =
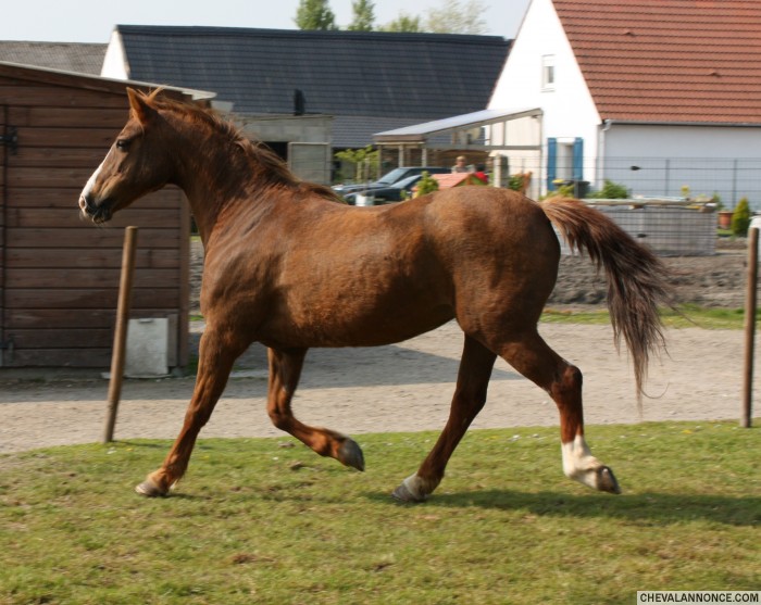
M0 41L0 61L100 75L108 45Z

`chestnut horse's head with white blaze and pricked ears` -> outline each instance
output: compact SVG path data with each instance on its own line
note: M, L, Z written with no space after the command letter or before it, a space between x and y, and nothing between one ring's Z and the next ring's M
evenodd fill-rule
M172 177L170 154L161 144L163 117L152 98L127 89L129 121L79 196L82 215L105 223L117 210L161 189Z

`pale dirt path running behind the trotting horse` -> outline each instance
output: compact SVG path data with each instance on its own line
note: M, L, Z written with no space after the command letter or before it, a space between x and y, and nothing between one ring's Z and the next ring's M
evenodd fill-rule
M584 373L587 424L636 423L634 380L609 326L541 327L545 339ZM743 333L670 330L670 356L651 366L645 420L737 418ZM298 417L347 433L440 430L447 419L462 336L456 324L391 346L311 351L295 400ZM283 434L265 413L265 354L254 345L201 437ZM757 375L761 367L757 367ZM174 438L194 379L127 380L117 439ZM88 443L102 437L108 382L0 383L0 453ZM761 389L756 393L758 401ZM474 428L556 425L547 394L499 361Z

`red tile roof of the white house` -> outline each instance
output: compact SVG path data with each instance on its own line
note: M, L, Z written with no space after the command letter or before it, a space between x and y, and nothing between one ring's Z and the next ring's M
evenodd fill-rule
M552 0L602 119L761 124L759 0Z

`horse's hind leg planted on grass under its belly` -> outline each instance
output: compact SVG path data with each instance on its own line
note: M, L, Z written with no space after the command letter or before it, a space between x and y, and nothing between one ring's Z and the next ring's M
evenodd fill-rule
M403 502L422 502L439 484L449 457L486 403L486 390L496 358L497 355L483 344L465 337L447 426L417 472L404 479L394 491L394 497Z

